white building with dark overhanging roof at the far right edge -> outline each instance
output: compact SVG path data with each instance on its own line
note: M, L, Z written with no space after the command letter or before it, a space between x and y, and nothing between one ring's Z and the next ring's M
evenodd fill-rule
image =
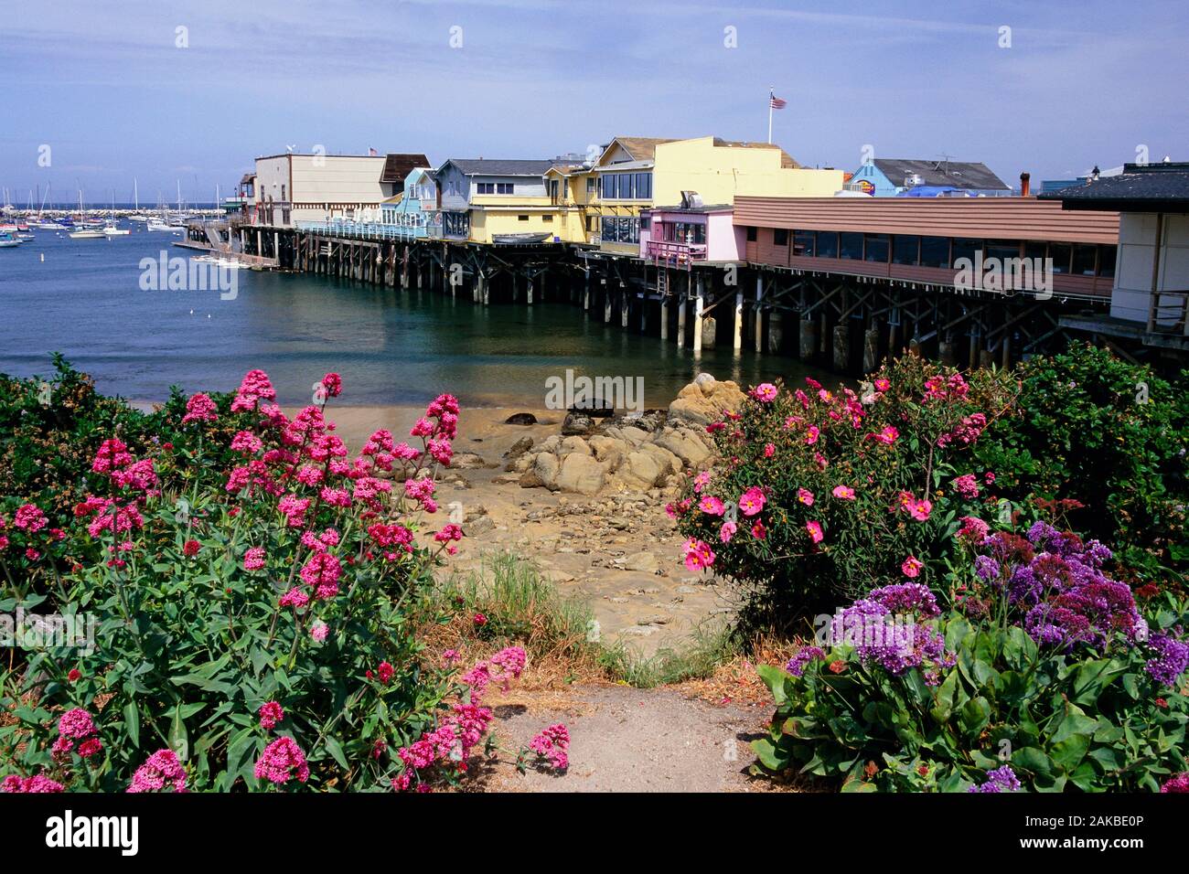
M1159 350L1189 351L1189 162L1125 164L1112 176L1045 191L1070 215L1119 214L1109 314L1068 327Z

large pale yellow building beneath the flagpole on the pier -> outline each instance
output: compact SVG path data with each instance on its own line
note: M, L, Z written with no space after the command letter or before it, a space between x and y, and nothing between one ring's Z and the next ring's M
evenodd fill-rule
M677 206L681 191L732 205L740 195L831 197L843 184L842 170L803 168L778 145L718 137L616 137L589 170L570 178L586 197L587 241L625 254L640 251L641 210Z

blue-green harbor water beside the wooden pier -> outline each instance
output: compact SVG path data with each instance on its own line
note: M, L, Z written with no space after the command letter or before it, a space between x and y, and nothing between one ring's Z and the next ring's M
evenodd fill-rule
M754 384L807 371L779 356L730 348L694 357L672 342L604 325L565 302L474 304L415 289L237 271L234 300L218 290L143 290L143 258L187 258L171 234L71 240L36 231L0 249L0 372L46 375L65 354L99 389L137 401L234 389L269 373L283 403L306 403L327 371L340 403L423 403L451 391L471 405L545 403L546 381L568 370L642 377L644 402L667 404L697 373ZM44 256L44 260L42 258Z

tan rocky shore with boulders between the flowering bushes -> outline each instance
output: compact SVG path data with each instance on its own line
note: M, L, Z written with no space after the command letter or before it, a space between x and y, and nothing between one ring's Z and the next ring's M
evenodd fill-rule
M604 640L646 654L679 645L732 605L713 577L681 564L665 504L711 463L705 426L743 397L735 383L703 373L667 409L624 416L464 409L454 459L439 476L442 511L461 516L466 535L451 567L465 573L515 552L590 603ZM375 428L407 432L419 411L335 413L354 446Z

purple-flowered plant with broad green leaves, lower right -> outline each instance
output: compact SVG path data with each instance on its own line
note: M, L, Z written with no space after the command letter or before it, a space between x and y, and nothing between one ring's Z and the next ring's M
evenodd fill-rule
M822 646L760 668L776 702L760 763L844 791L1174 791L1185 605L1141 611L1096 541L964 528L948 610L919 584L886 586Z

